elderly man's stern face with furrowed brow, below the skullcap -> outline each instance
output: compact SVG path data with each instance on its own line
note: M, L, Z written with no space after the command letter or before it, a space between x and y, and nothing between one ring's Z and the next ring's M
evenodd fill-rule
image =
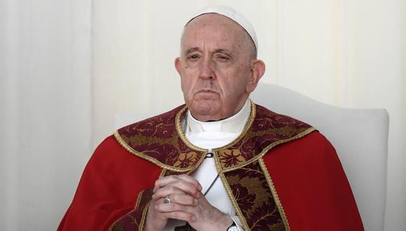
M214 13L200 15L186 26L175 66L186 105L197 120L234 115L255 89L249 39L236 22Z

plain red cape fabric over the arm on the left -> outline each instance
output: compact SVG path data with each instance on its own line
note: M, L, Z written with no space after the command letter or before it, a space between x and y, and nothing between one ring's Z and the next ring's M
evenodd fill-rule
M152 188L162 169L126 151L107 137L94 151L71 206L57 230L109 230L134 209L137 196Z

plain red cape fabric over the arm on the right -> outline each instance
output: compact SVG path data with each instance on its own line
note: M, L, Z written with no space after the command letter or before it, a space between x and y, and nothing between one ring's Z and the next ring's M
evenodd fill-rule
M264 160L290 230L363 230L342 165L323 135L276 146Z

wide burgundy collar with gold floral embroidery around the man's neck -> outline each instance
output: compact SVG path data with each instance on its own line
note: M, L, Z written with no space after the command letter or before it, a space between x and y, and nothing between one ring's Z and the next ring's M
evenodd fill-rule
M253 123L246 134L231 146L216 150L222 169L244 165L272 144L289 141L311 128L306 123L262 106L254 106L252 111L255 110L255 114L251 113ZM160 116L127 125L116 132L116 138L122 139L134 153L156 160L160 165L178 169L195 168L204 152L185 144L179 135L181 131L176 132L176 115L182 113L181 118L185 111L182 105Z

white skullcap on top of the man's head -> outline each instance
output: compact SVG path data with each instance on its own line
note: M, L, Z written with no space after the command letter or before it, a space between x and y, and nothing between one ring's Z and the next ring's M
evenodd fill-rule
M201 10L199 13L197 13L192 19L189 20L189 22L194 20L197 16L204 15L206 13L218 13L219 15L224 15L225 17L230 18L231 20L237 22L242 28L245 29L245 31L249 34L249 36L251 36L255 48L256 50L258 50L257 36L255 35L255 30L253 29L251 22L249 22L243 15L238 13L235 9L230 8L228 6L209 6ZM188 23L186 23L186 25L188 25Z

